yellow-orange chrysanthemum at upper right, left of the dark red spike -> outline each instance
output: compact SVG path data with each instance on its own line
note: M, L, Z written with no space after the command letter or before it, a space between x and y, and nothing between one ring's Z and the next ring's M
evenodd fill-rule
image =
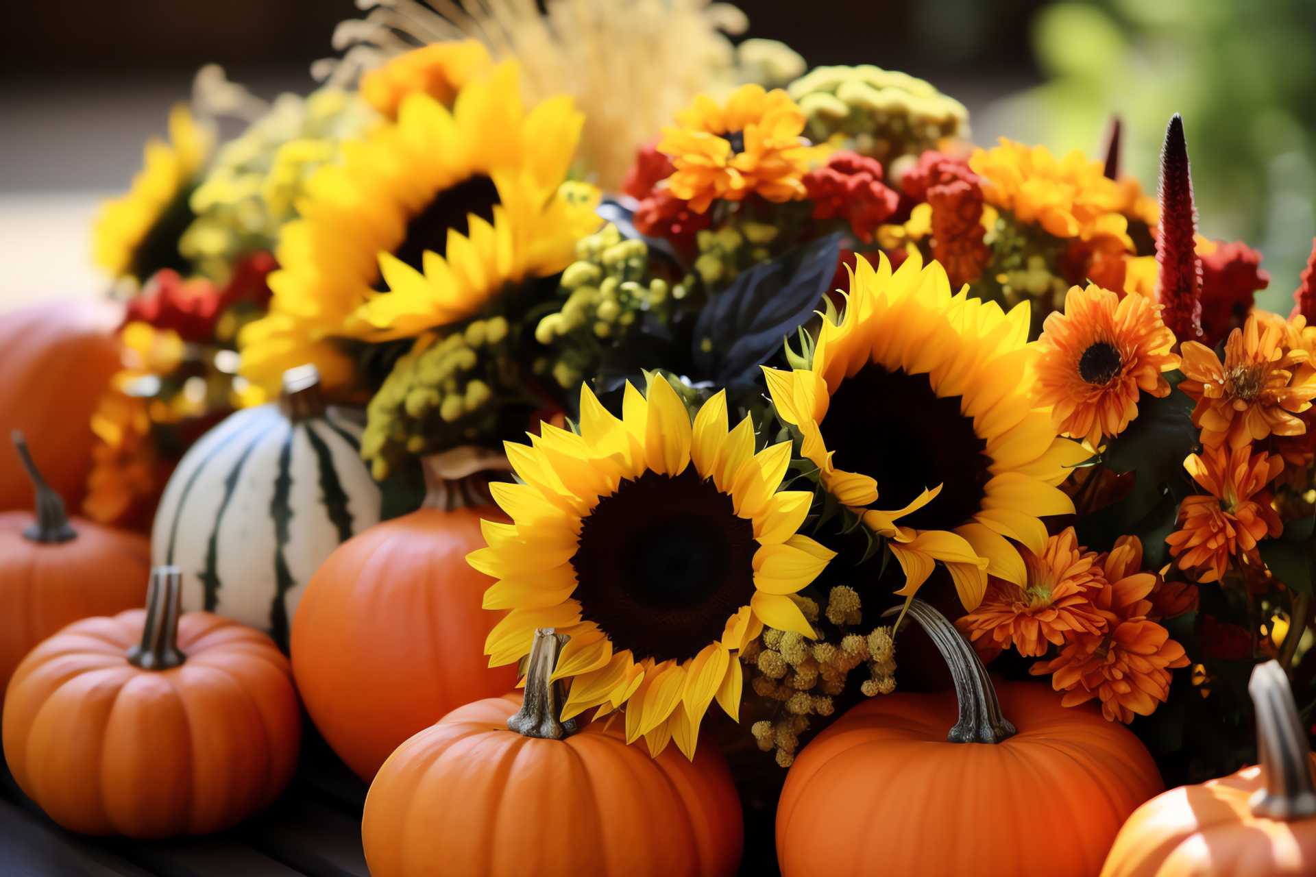
M1136 196L1105 178L1100 162L1074 150L1061 160L1045 146L1028 147L1007 138L991 150L975 150L969 167L983 178L988 204L1012 210L1025 225L1040 225L1057 238L1116 238L1133 251L1129 221Z

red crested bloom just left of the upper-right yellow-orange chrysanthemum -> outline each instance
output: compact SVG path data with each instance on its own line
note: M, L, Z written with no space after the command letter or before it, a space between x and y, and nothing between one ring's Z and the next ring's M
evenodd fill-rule
M932 205L932 258L946 270L951 288L978 280L991 250L983 243L983 191L969 162L929 150L901 178L900 188Z

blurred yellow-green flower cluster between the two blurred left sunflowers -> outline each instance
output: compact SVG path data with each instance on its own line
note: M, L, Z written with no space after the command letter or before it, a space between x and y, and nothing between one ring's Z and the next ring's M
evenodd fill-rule
M303 184L338 159L340 143L379 118L358 93L321 88L309 97L284 93L270 110L225 143L192 193L197 218L179 250L217 283L247 252L274 250L279 229L296 217Z

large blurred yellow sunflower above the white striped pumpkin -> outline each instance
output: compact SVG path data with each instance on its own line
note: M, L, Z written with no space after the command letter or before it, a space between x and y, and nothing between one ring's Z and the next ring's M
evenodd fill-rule
M467 83L451 110L407 95L395 124L308 180L301 218L280 233L270 314L242 331L242 375L275 387L315 363L332 388L351 364L330 338L418 335L565 268L601 224L597 189L563 181L582 121L565 96L524 113L512 62Z

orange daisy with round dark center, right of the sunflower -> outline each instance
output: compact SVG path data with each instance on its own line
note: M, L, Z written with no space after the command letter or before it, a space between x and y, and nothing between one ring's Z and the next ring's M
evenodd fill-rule
M1120 297L1095 285L1074 287L1065 313L1053 313L1033 346L1034 397L1051 406L1057 433L1086 439L1116 437L1138 415L1138 391L1169 396L1161 372L1179 367L1170 352L1174 334L1161 322L1161 305L1142 296Z

